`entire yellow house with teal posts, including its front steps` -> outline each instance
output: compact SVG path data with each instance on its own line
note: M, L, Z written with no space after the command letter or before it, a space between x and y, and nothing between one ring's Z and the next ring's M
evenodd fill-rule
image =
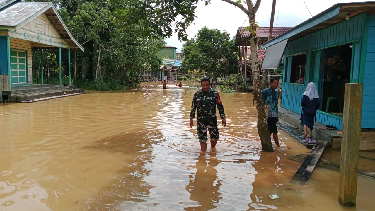
M42 49L47 48L59 51L59 84L43 84ZM32 55L32 49L41 49L41 54ZM0 92L9 102L33 102L84 93L71 84L71 50L84 51L51 2L0 0ZM62 51L68 52L68 86L62 84ZM33 84L34 56L41 58L42 84Z

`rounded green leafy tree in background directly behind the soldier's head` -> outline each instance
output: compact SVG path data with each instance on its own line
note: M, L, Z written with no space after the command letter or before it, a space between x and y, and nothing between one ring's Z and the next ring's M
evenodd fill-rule
M183 45L182 51L185 55L182 67L189 71L206 72L217 78L238 68L238 47L225 31L204 27Z

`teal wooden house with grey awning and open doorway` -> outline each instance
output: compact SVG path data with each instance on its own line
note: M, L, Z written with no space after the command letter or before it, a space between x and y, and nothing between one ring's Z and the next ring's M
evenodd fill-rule
M262 69L284 56L281 107L301 113L309 82L317 85L317 122L342 129L345 83L363 83L363 131L375 129L375 2L338 3L263 44Z

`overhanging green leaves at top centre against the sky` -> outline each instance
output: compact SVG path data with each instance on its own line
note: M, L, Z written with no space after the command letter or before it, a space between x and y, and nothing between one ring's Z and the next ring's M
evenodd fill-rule
M206 5L210 2L210 0L204 1ZM113 8L116 8L113 22L117 27L131 32L132 25L138 24L142 28L137 31L137 35L168 38L172 36L171 25L174 24L174 33L177 33L178 39L187 41L186 28L195 18L198 0L111 0L110 2Z

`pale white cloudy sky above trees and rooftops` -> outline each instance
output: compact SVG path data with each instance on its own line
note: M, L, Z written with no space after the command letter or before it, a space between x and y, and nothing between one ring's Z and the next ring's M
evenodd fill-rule
M254 0L253 0L254 2ZM368 0L276 0L275 19L273 27L294 27L308 20L337 3L345 2L369 2ZM306 3L306 5L305 5ZM271 18L272 0L262 0L255 20L260 27L269 27ZM311 15L310 15L311 14ZM198 30L206 26L208 29L226 30L233 38L237 28L248 26L247 15L235 6L221 0L211 0L211 4L205 6L200 1L195 10L196 18L186 32L188 38L194 37ZM182 44L177 35L165 40L166 45L177 48L181 52Z

